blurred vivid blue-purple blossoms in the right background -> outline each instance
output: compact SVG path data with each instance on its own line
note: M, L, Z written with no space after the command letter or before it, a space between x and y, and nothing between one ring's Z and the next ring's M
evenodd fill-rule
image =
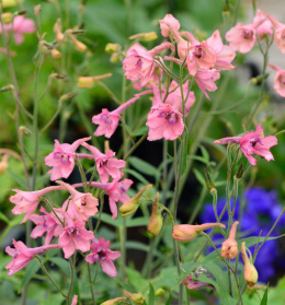
M267 191L258 187L250 188L244 193L244 200L246 207L239 224L239 230L242 233L242 237L259 236L261 231L261 236L265 236L283 209L278 201L277 192L275 190ZM218 214L220 214L223 211L225 203L225 198L218 200ZM240 201L237 200L236 212L232 222L239 220L239 214ZM216 221L212 203L205 204L204 211L200 218L202 223ZM227 224L227 222L228 214L225 213L221 219L221 223ZM284 231L282 231L282 227L284 226L285 216L282 216L271 236L277 236L282 234ZM250 247L252 254L254 251L254 247L255 246ZM266 283L270 278L274 277L276 267L285 268L284 263L282 262L283 260L280 258L281 253L278 253L278 241L267 241L260 249L254 263L259 272L260 282Z

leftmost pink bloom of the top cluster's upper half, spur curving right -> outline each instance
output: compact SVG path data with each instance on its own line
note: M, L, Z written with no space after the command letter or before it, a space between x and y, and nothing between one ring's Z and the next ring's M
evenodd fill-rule
M155 69L155 57L166 49L174 50L174 46L170 43L162 43L151 50L142 50L141 48L133 48L123 61L123 70L125 77L130 81L140 80L140 85L146 85L152 78Z

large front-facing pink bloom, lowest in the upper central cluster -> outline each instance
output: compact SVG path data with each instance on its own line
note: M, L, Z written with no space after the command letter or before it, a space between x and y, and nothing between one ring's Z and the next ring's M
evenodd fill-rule
M178 110L179 105L159 103L151 107L148 114L147 126L149 127L148 140L155 141L164 138L175 140L184 130L182 114Z

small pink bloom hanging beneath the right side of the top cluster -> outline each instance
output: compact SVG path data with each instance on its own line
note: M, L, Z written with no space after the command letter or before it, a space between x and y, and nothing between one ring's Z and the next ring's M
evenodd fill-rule
M209 96L207 91L213 92L218 89L217 85L215 84L215 81L217 81L219 78L220 78L219 71L215 69L197 71L195 75L196 83L208 99Z

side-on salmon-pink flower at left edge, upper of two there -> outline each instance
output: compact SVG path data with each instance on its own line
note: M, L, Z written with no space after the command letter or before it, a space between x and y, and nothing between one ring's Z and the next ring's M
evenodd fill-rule
M39 197L44 196L45 193L61 189L60 187L52 186L46 187L41 190L35 191L23 191L19 189L13 189L16 193L10 197L10 201L15 204L12 213L15 215L26 213L22 223L25 222L30 216L34 213L39 202Z

